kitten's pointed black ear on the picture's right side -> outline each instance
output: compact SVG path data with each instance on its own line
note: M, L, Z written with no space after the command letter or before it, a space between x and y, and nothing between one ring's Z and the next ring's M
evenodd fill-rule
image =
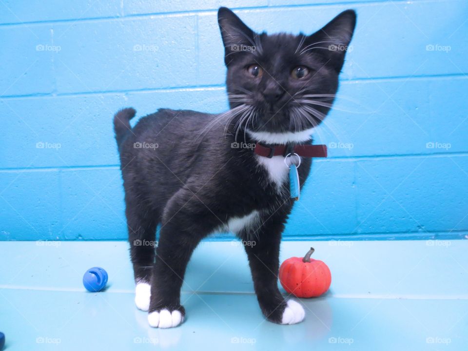
M343 11L322 29L307 37L307 49L321 48L317 49L320 50L320 54L330 59L329 62L337 72L340 72L345 60L345 54L350 48L349 45L355 26L356 13L353 10Z

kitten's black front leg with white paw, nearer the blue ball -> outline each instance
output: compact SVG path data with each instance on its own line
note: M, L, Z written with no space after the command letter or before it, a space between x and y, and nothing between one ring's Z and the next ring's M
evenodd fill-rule
M190 257L200 240L219 221L185 189L169 200L161 223L156 261L151 277L148 322L151 327L172 328L184 321L180 289Z

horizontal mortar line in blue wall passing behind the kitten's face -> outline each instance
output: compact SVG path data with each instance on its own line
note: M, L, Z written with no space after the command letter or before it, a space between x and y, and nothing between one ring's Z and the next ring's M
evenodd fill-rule
M366 82L386 82L398 80L432 80L432 79L445 79L445 78L459 78L468 79L465 73L441 74L441 75L420 75L420 76L394 76L394 77L373 77L373 78L352 78L341 79L342 84L352 83L366 83ZM106 94L132 94L132 93L169 93L169 92L184 92L184 91L216 91L225 90L226 85L223 84L207 84L207 85L187 85L176 87L163 87L163 88L141 88L141 89L126 89L126 90L102 90L92 92L73 92L73 93L33 93L23 95L5 95L0 96L1 99L15 99L15 98L56 98L56 97L80 97L90 95L106 95ZM339 95L338 95L339 98Z

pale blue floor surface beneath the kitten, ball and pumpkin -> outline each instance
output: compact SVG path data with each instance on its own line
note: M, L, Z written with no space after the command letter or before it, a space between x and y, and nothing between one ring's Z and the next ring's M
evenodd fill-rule
M306 319L264 320L243 248L204 242L186 274L187 319L153 329L134 305L125 242L0 242L5 350L468 350L468 241L283 242L281 260L310 246L330 291L301 299ZM82 274L101 266L105 292Z

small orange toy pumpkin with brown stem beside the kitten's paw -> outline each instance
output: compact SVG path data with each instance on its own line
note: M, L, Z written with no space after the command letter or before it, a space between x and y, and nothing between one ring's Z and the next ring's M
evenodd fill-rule
M297 297L317 297L330 288L331 273L320 260L311 258L314 250L302 257L291 257L279 268L279 281L286 292Z

